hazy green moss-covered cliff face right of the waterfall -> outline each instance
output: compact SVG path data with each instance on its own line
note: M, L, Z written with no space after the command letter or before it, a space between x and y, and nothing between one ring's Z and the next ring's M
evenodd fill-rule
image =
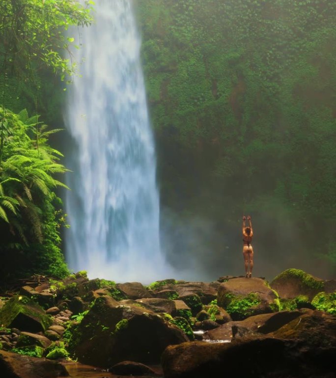
M313 258L336 243L336 5L138 0L136 15L170 259L211 249L216 269L246 212L264 270L286 268L281 253L321 274Z

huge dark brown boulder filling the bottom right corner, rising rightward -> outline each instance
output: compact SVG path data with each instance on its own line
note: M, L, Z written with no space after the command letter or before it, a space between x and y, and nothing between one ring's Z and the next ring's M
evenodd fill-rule
M335 378L335 355L335 317L307 312L267 336L169 346L162 366L165 378L217 377L219 372L227 377Z

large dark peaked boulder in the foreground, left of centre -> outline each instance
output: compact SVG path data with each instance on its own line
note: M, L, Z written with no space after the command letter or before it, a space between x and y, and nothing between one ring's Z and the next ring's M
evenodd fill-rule
M187 340L161 316L102 296L74 332L73 349L80 362L94 366L110 367L125 360L156 364L168 345Z

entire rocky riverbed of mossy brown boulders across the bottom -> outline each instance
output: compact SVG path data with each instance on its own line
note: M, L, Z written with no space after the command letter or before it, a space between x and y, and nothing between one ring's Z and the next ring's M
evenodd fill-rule
M2 293L1 378L335 378L335 290L297 269L271 283L34 276Z

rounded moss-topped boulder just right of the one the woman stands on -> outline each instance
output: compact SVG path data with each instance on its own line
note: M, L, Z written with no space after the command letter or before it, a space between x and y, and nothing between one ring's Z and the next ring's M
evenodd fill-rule
M307 295L311 301L316 294L324 291L324 281L300 269L287 269L271 282L271 287L278 292L280 298Z

